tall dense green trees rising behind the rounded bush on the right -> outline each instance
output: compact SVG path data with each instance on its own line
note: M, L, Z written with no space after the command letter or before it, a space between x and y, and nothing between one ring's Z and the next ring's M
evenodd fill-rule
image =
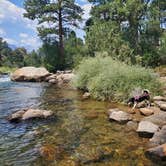
M90 55L108 52L113 59L143 66L165 64L166 1L89 0L93 3L86 24ZM140 62L140 60L142 60Z

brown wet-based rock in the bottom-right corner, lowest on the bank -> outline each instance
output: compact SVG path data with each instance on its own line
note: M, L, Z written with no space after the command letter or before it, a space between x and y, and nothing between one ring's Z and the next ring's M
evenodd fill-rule
M160 146L150 148L145 152L146 156L149 158L155 158L156 161L158 159L160 160L166 160L166 144L162 144Z

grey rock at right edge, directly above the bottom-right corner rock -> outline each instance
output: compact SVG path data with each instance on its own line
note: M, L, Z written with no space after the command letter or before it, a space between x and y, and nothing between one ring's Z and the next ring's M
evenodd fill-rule
M154 133L153 137L150 139L150 146L158 146L166 143L166 125L161 128L161 130Z

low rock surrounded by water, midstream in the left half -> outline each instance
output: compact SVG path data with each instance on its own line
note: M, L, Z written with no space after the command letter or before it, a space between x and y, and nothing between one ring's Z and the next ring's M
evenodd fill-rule
M13 113L8 117L10 122L18 122L21 120L33 119L33 118L48 118L53 115L52 111L39 110L39 109L27 109Z

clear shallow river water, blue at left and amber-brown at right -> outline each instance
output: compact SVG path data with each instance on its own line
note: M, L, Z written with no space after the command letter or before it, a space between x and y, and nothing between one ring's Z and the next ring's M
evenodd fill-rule
M109 122L107 111L114 107L82 100L71 87L1 77L0 166L157 166L144 156L148 139ZM52 110L55 115L9 123L7 117L22 108Z

